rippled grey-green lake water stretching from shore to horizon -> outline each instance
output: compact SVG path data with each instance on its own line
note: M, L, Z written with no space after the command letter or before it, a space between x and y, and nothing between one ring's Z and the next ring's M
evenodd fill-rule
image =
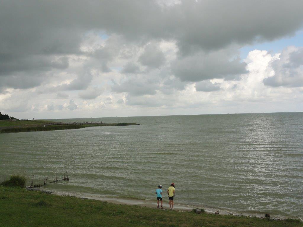
M303 113L56 121L141 125L0 134L0 180L67 171L69 182L46 189L151 200L174 182L175 203L303 217Z

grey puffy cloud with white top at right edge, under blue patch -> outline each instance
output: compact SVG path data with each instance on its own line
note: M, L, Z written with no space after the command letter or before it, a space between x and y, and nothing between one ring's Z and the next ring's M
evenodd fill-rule
M271 87L301 87L303 86L303 48L289 47L282 51L279 59L271 63L275 75L263 82Z

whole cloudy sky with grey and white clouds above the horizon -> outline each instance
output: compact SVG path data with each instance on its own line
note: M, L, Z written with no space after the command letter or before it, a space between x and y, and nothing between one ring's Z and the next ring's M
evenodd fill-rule
M302 0L0 0L0 111L303 111Z

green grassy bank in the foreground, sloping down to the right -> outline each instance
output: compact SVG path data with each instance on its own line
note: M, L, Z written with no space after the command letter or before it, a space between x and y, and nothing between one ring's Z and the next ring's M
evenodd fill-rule
M0 186L0 226L300 226L299 222L163 211Z

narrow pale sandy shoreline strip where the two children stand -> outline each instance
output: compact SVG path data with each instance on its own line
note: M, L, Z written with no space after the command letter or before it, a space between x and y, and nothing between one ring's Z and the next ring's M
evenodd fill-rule
M55 190L49 190L49 189L39 189L39 188L26 188L26 190L28 191L41 191L44 193L48 193L48 194L54 194L54 195L58 195L58 196L72 196L72 197L76 197L76 198L81 198L81 199L92 199L92 200L98 200L98 201L102 201L102 202L109 202L112 204L116 204L116 205L131 205L131 206L142 206L142 207L148 207L148 208L154 208L157 209L157 200L143 200L143 199L128 199L128 198L117 198L117 197L107 197L107 196L98 196L98 195L93 195L93 194L89 194L87 193L87 195L83 194L83 193L68 193L68 192L58 192ZM169 204L168 202L163 202L163 210L170 210L169 209ZM237 212L229 212L229 211L224 211L222 209L215 209L215 208L206 208L203 206L191 206L191 205L182 205L182 204L174 204L174 210L179 211L179 212L191 212L195 209L203 209L205 211L206 214L215 214L215 211L219 211L220 214L219 215L231 215L231 216L236 216L236 217L241 217L241 216L245 216L245 217L255 217L255 218L260 218L263 219L265 218L265 213L263 214L263 216L261 215L261 212L258 213L237 213ZM292 217L292 216L284 216L284 215L271 215L271 219L272 220L285 220L288 218L296 218L296 219L300 219L301 222L303 222L303 217Z

